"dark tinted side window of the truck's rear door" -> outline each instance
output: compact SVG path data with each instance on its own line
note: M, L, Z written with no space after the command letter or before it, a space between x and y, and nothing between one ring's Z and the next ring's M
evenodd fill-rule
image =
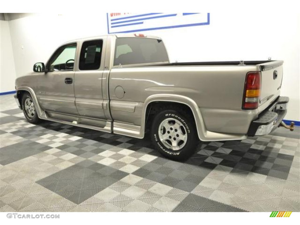
M102 40L83 42L79 58L79 70L98 70L100 68L102 45Z

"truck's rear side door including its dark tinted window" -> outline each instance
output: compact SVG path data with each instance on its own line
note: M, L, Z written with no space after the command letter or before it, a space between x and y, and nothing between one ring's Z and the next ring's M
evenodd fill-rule
M78 68L75 72L74 92L80 116L105 120L104 109L107 109L107 101L103 101L102 95L103 46L105 46L103 39L82 43Z

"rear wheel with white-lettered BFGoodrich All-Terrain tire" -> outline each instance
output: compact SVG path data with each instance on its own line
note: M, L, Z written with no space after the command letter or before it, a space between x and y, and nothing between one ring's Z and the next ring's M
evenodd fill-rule
M178 107L177 107L178 108ZM182 161L190 157L199 142L191 113L175 107L162 108L152 123L151 140L167 158Z

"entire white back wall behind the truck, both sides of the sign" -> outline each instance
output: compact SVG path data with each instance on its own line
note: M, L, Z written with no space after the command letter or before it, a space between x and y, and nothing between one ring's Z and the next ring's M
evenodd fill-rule
M299 20L289 11L211 13L210 25L143 33L162 37L171 61L284 60L281 95L290 98L285 119L300 121ZM16 76L22 76L65 41L107 34L107 15L38 14L9 26Z

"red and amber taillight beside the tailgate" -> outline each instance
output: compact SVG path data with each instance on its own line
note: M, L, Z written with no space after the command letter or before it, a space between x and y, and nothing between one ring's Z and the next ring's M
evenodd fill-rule
M244 110L257 109L260 89L261 89L261 74L260 72L249 72L246 75L244 87L243 106Z

